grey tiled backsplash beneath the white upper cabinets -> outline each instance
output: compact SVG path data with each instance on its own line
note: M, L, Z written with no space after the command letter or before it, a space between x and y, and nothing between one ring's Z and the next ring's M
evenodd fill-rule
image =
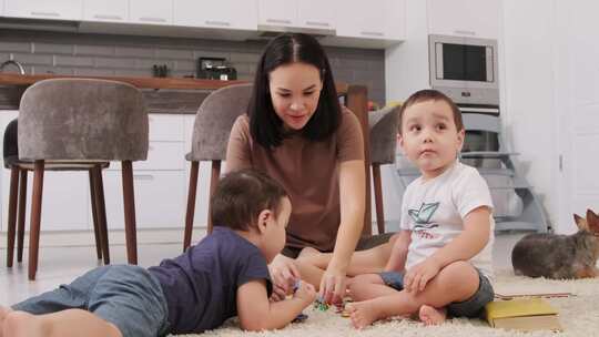
M200 57L226 58L240 80L252 80L265 41L221 41L138 35L0 30L0 62L21 62L28 74L151 76L166 64L172 76L195 74ZM336 81L365 84L385 102L383 50L326 47Z

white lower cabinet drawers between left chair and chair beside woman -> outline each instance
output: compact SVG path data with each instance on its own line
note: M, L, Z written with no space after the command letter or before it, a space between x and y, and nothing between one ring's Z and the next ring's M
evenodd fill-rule
M138 228L182 228L185 214L183 115L149 115L148 160L133 162ZM104 174L109 228L124 228L121 164Z

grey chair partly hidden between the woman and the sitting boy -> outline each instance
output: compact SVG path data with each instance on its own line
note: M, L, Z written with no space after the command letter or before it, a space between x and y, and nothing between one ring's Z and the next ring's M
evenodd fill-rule
M368 113L368 125L370 129L370 164L373 167L376 225L378 234L385 233L380 165L395 163L399 108L399 105L387 106Z

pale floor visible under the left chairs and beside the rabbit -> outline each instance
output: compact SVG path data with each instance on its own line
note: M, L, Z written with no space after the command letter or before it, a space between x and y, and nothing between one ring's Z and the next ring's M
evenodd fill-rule
M510 252L522 234L501 234L496 236L494 245L495 268L511 268ZM139 245L139 264L144 267L159 264L165 257L181 254L182 244ZM81 247L41 247L37 279L27 279L27 253L23 264L6 267L6 248L0 249L0 305L12 305L30 296L53 289L60 284L70 283L77 276L97 267L95 248ZM113 245L110 249L113 264L125 263L125 248Z

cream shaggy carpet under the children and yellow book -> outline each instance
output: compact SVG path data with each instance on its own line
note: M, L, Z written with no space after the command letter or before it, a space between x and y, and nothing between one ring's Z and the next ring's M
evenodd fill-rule
M450 319L439 326L426 327L408 319L394 319L377 323L366 329L355 330L348 318L335 314L334 309L319 312L312 307L304 310L309 317L306 321L292 324L284 329L264 333L244 333L236 319L231 319L216 330L203 335L187 336L599 336L599 278L578 280L532 279L515 276L511 270L497 270L495 289L499 294L521 293L572 293L576 296L548 298L558 310L562 333L532 331L519 333L490 328L478 319Z

